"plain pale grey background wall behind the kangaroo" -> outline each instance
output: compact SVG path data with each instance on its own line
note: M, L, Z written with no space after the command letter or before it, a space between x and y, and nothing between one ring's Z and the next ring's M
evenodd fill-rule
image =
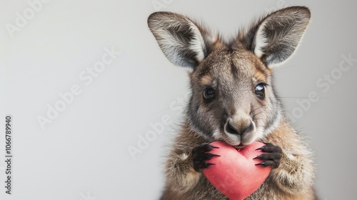
M343 55L357 58L356 1L157 1L161 10L202 20L223 36L235 36L266 11L310 7L311 24L293 58L277 69L276 89L291 116L298 101L318 94L293 119L316 154L316 189L321 199L356 199L357 62L338 74ZM16 13L31 6L0 1L0 199L159 198L188 77L161 53L146 25L157 10L153 2L49 1L11 38L6 23L15 25ZM111 46L121 54L86 85L79 75ZM338 79L324 90L316 81L331 72ZM41 129L37 117L74 84L81 94ZM5 114L14 126L11 196L4 193ZM173 123L133 159L129 146L137 147L166 115Z

